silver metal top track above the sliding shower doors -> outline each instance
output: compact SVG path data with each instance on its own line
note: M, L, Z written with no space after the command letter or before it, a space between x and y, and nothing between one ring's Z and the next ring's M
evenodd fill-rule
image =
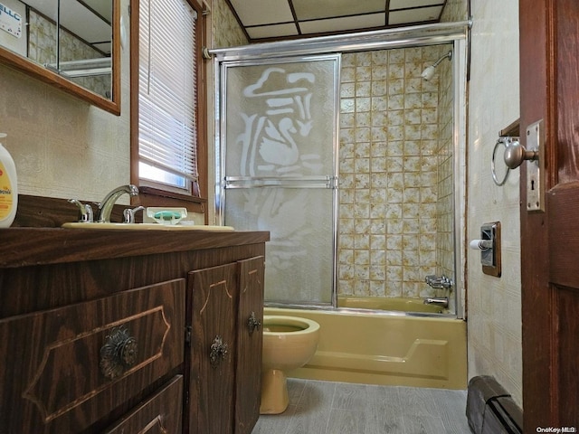
M308 39L261 42L230 48L207 50L217 61L235 61L267 56L284 57L312 52L355 52L399 48L411 45L434 45L465 39L472 20L454 23L422 24L409 27L350 34L319 36Z

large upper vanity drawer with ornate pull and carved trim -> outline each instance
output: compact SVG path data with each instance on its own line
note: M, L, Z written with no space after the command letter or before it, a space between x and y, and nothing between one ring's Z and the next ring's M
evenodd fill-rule
M182 363L185 279L0 321L0 433L89 428Z

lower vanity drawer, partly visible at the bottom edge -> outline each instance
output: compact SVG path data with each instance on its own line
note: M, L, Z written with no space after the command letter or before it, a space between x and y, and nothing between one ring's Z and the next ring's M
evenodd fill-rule
M183 376L177 375L161 392L143 402L104 434L177 434L183 414Z

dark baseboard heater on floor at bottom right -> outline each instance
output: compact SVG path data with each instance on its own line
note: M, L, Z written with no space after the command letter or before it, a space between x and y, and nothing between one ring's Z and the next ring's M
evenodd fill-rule
M489 375L473 377L467 393L467 419L474 434L522 434L523 410Z

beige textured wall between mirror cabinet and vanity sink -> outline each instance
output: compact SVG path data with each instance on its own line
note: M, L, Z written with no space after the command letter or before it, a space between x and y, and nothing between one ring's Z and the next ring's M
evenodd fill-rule
M122 3L127 14L128 0ZM128 183L128 48L121 57L120 117L0 65L0 131L8 134L20 193L100 201Z

